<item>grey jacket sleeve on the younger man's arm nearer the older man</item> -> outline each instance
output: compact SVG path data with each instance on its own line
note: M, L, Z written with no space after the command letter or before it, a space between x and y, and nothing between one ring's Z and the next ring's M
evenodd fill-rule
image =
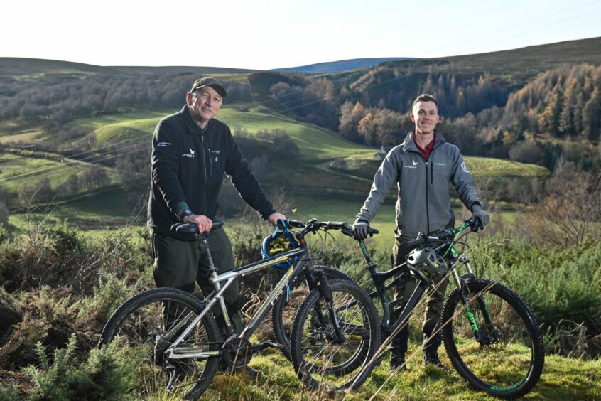
M386 155L372 183L372 189L369 191L369 196L365 200L361 210L357 213L356 220L362 220L369 223L378 213L382 203L386 199L386 195L390 191L391 186L399 181L399 169L401 160L397 148L392 149Z

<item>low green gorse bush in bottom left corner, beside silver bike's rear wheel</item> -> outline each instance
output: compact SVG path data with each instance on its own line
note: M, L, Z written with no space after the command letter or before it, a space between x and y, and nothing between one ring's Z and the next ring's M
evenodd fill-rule
M85 362L77 359L77 341L71 336L67 347L54 351L50 360L41 343L36 345L41 366L28 366L25 373L33 388L30 400L124 400L133 398L138 384L139 360L126 356L117 343L90 351Z

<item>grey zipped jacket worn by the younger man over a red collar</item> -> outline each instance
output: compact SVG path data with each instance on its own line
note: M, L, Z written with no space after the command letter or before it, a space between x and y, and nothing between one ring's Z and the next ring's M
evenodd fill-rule
M482 206L482 201L457 146L436 132L434 148L426 163L412 134L409 132L404 142L389 151L382 161L357 220L372 221L392 184L396 183L399 190L396 235L414 238L420 231L431 235L455 225L449 183L453 183L469 210L475 204Z

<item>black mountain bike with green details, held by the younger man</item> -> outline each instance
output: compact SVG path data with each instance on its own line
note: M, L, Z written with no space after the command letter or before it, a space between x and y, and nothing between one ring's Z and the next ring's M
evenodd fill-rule
M541 376L544 365L542 335L529 306L499 282L478 278L469 257L464 255L468 245L462 238L477 231L479 225L478 220L465 220L458 228L431 236L420 235L416 240L406 242L406 247L415 248L413 256L410 254L408 258L413 257L413 262L417 263L400 264L387 272L377 272L377 265L364 241L354 237L350 225L330 223L330 228L341 230L359 242L375 285L369 296L381 301L383 338L396 335L401 326L408 324L428 286L435 285L440 277L452 277L456 288L445 299L439 326L453 368L477 390L503 398L520 397L529 392ZM378 231L370 228L368 233L374 235ZM457 250L459 245L463 246L461 252ZM428 257L428 251L436 255L433 260L438 267L434 269L429 268L424 259ZM416 260L420 257L422 260ZM465 267L467 272L460 275L459 267ZM435 277L436 274L440 276ZM401 300L404 309L399 319L391 323L394 302L389 301L387 293L413 278L417 279L416 289L409 299ZM280 305L276 305L274 311L286 309L286 299L278 302ZM278 323L282 321L281 316L273 319ZM276 336L286 335L282 330L274 332ZM278 341L285 343L282 338Z

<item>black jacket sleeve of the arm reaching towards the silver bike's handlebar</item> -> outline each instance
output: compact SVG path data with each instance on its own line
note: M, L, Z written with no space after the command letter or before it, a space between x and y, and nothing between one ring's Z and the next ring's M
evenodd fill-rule
M225 173L230 176L234 187L248 203L251 208L261 213L261 216L266 219L272 213L275 213L274 206L267 200L259 180L252 172L249 162L242 158L242 152L238 148L238 144L234 141L232 133L227 128L227 159L225 164Z

